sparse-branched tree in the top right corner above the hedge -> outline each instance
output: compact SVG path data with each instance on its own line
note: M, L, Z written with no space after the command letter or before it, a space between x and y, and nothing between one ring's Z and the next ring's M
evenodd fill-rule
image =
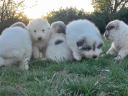
M93 0L92 4L96 11L116 13L127 7L128 0Z

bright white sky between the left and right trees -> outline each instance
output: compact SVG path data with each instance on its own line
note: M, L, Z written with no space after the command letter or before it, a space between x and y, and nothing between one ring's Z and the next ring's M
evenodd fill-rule
M25 0L24 13L31 19L45 16L52 10L59 8L75 7L92 12L94 9L91 0Z

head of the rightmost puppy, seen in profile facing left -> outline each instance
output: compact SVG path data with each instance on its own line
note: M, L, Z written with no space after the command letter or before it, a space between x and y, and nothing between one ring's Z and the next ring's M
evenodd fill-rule
M117 35L120 32L123 32L125 26L126 24L123 21L120 20L110 21L106 26L104 36L109 40L113 40L115 37L117 37Z

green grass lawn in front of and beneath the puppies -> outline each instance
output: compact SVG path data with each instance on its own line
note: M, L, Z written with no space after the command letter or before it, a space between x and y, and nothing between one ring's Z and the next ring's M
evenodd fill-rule
M105 44L104 51L109 48ZM128 58L57 64L32 61L28 71L0 68L0 96L128 96Z

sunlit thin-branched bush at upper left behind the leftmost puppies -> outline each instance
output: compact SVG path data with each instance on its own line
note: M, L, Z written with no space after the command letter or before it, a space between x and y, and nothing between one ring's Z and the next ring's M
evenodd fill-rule
M24 0L0 1L0 33L3 29L9 27L17 21L24 22L25 24L28 23L28 18L24 15L24 13L18 11L18 8L23 8L23 2Z

